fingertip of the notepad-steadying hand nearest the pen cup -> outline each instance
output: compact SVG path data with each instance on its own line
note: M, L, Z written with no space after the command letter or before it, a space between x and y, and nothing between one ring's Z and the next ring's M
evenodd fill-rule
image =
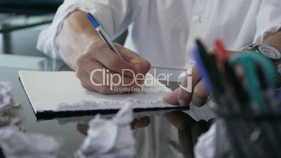
M203 106L205 105L208 99L208 92L205 88L203 80L200 80L193 89L192 94L192 103L194 106Z

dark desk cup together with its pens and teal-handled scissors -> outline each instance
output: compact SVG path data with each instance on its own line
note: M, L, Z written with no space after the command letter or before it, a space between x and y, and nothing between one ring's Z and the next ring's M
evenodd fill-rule
M281 157L281 102L275 94L275 66L257 52L227 56L216 41L216 59L201 41L192 51L212 98L208 106L215 120L215 157ZM240 67L239 75L236 69ZM280 94L279 94L280 95Z

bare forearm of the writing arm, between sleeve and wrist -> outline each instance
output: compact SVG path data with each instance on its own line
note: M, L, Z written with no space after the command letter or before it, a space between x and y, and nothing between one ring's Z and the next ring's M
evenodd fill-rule
M55 43L64 62L75 70L77 57L85 51L89 43L100 40L99 34L87 20L86 13L77 10L64 20Z

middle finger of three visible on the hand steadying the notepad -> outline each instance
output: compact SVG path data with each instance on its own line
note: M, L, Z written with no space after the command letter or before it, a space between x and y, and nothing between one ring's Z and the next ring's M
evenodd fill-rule
M178 94L178 102L181 106L189 106L190 101L192 100L192 92L188 92L186 88L187 86L192 86L192 89L194 89L195 85L199 82L201 79L198 71L196 70L196 67L192 67L192 74L191 76L187 76L182 80L180 92ZM190 80L191 78L191 80ZM192 83L190 83L190 81Z

